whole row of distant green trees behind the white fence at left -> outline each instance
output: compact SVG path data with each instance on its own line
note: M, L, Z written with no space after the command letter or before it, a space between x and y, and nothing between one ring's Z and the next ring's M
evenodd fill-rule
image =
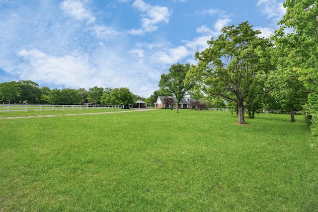
M91 87L72 89L50 89L39 87L31 80L19 80L0 83L0 104L91 104L125 105L136 104L145 99L130 92L128 88Z

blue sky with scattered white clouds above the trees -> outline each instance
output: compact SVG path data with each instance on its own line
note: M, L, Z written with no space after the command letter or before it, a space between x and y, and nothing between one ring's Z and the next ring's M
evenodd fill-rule
M282 0L0 0L0 82L127 87L149 97L176 63L196 64L224 26L268 38Z

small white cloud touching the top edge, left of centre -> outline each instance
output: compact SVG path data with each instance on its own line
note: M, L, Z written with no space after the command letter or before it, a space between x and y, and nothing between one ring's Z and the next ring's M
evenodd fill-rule
M64 0L61 3L61 8L65 13L76 18L77 20L86 20L87 22L91 23L96 19L79 0Z

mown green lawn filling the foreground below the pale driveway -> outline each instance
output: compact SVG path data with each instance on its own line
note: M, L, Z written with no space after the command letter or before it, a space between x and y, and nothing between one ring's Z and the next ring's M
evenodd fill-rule
M152 110L0 120L0 211L318 211L305 119Z

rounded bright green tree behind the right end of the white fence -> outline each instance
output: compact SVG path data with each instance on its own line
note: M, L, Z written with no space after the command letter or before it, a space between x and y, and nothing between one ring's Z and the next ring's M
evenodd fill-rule
M114 88L110 94L104 93L101 97L104 105L136 104L134 94L126 87Z

